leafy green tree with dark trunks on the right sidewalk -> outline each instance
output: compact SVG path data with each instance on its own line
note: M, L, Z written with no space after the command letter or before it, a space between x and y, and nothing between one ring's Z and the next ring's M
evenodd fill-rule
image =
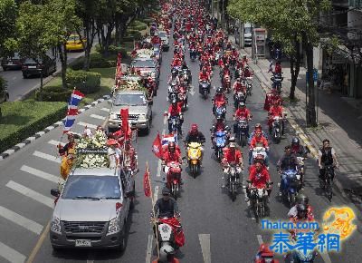
M291 63L291 99L294 99L300 72L300 43L307 55L307 70L313 75L313 46L320 43L319 12L330 8L330 0L230 0L228 12L242 21L261 24L274 41L283 46ZM315 93L313 79L309 80L307 123L316 126Z

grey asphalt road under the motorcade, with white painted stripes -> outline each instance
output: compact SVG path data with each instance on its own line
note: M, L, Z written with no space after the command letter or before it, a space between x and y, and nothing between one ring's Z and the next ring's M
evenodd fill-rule
M151 152L152 141L158 132L167 129L163 112L167 110L167 77L170 73L172 49L163 54L159 92L153 105L154 121L148 136L138 137L138 161L140 172L137 178L136 208L129 218L128 247L123 254L112 251L66 250L62 253L52 252L49 233L46 228L52 215L52 197L50 190L56 187L55 177L59 176L59 161L55 159L54 144L60 141L62 130L55 129L45 134L30 146L17 151L0 161L0 262L146 262L155 258L157 251L155 241L152 240L149 224L151 200L146 198L142 188L142 175L145 162L148 161L152 178L152 189L157 194L162 189L163 174L158 171L158 161ZM193 73L193 85L197 88L198 63L191 63L187 57L187 64ZM214 70L213 85L219 85L218 69ZM197 92L197 89L195 90ZM214 95L214 90L212 91ZM266 129L266 112L262 110L264 93L259 83L254 82L253 94L247 101L252 111L252 126L262 122ZM229 95L229 102L233 102ZM96 107L81 114L74 125L74 132L81 132L88 123L101 124L99 116L107 117L108 102L102 102ZM184 169L182 176L184 185L181 198L177 200L181 210L182 224L186 235L186 245L181 248L178 258L187 263L224 263L224 262L252 262L259 244L271 242L271 232L261 229L244 201L243 190L240 189L237 199L233 202L228 193L221 189L220 164L212 157L209 129L213 122L211 98L204 101L198 93L189 94L189 109L185 113L183 130L187 132L192 123L198 123L199 130L204 132L205 158L202 174L193 179ZM233 104L227 108L227 119L230 125ZM251 126L251 127L252 127ZM271 143L271 177L279 182L275 163L281 157L283 148L291 141L293 131L279 145ZM64 140L63 140L64 141ZM184 148L182 147L184 150ZM48 155L44 155L48 154ZM185 151L183 151L185 154ZM247 161L247 150L243 149L244 161ZM50 155L50 156L49 156ZM34 170L35 169L35 170ZM244 174L246 177L247 174ZM357 211L348 200L344 200L338 192L332 202L322 195L317 180L315 161L306 161L306 190L310 197L310 204L315 209L317 219L329 206L348 205ZM277 189L271 192L271 219L287 219L288 207L277 198ZM16 213L16 214L14 214ZM17 214L21 215L19 217ZM361 226L360 213L355 223ZM360 262L360 229L345 241L341 254L319 255L315 262ZM30 257L30 258L29 258ZM5 260L7 259L7 261ZM281 261L282 262L282 261Z

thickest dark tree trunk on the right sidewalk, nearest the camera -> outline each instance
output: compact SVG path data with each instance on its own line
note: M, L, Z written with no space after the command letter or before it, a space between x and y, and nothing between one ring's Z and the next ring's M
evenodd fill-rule
M307 126L316 127L317 126L317 117L316 117L316 103L315 103L315 93L314 93L314 81L313 81L313 45L307 43L307 70L309 74L308 79L308 105L307 105Z

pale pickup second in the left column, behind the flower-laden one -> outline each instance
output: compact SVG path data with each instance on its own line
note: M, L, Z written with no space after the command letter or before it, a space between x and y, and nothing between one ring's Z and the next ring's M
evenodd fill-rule
M124 90L114 95L108 120L109 132L118 131L122 125L120 110L129 108L131 128L149 132L152 122L152 102L148 102L143 91Z

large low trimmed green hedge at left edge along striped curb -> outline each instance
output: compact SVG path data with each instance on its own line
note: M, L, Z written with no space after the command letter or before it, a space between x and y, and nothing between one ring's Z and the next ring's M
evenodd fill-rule
M5 102L1 105L0 152L65 117L65 102Z

